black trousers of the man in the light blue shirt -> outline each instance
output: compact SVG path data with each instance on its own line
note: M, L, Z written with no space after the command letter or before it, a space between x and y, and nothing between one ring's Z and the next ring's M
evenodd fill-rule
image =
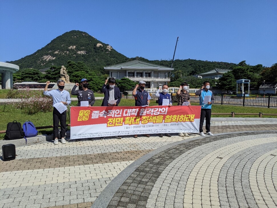
M66 111L60 113L56 108L53 109L53 132L54 138L58 137L59 133L59 122L61 124L61 137L65 137L66 131Z

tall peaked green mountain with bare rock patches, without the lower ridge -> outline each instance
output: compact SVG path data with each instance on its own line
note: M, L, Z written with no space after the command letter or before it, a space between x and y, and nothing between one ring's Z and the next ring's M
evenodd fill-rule
M20 69L45 69L52 65L66 65L67 61L83 61L92 69L99 69L129 61L129 58L86 32L72 30L56 37L35 53L9 63L18 65Z

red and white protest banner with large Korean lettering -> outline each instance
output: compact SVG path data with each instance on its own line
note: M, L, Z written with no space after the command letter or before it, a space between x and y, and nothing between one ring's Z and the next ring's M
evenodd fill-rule
M71 107L71 139L199 132L201 106Z

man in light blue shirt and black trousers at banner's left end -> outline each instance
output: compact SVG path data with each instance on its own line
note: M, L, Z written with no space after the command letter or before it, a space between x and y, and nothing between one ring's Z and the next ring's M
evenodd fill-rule
M54 133L54 145L59 143L59 123L61 124L61 143L65 144L65 132L66 132L66 106L71 103L70 95L68 91L65 91L65 81L59 79L57 86L59 89L48 91L48 85L50 81L46 82L43 95L51 96L53 98L53 133Z

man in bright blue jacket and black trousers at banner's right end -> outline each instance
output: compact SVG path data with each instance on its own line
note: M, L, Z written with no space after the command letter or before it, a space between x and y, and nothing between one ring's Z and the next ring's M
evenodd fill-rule
M204 119L206 119L206 134L213 136L213 134L210 132L210 123L212 114L212 103L214 103L214 95L209 89L210 83L208 81L204 81L201 89L195 92L195 95L199 95L201 105L199 132L202 137L206 136L203 132Z

